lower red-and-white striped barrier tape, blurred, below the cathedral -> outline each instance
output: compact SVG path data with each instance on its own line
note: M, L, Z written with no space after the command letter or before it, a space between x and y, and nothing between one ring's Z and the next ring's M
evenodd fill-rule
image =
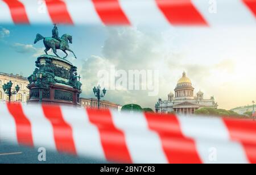
M256 163L253 120L0 105L0 141L118 163Z

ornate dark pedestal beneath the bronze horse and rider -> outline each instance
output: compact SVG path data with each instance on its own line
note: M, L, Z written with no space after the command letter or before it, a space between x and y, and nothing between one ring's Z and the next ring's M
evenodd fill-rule
M28 104L77 106L81 94L81 83L77 80L77 68L67 60L43 55L36 61L34 73L28 77L30 99ZM38 78L42 76L42 78Z

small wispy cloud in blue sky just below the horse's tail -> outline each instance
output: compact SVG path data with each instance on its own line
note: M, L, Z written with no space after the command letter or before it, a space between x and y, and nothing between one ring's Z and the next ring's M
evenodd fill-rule
M32 53L33 57L42 55L44 51L44 48L35 48L32 44L14 43L11 47L18 53Z

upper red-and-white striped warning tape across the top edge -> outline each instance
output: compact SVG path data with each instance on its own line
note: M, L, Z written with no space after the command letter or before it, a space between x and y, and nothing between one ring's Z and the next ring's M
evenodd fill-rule
M256 0L0 0L0 23L255 25Z

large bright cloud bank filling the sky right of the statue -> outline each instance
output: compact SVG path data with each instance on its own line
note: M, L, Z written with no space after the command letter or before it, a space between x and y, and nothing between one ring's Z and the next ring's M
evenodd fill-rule
M201 89L205 98L214 95L220 107L225 109L232 108L238 101L245 103L250 95L251 98L255 96L255 82L248 81L254 80L249 72L255 66L255 32L248 32L253 36L247 41L241 39L245 36L238 35L240 31L233 35L218 30L145 32L131 27L108 28L107 31L102 55L84 59L82 64L83 93L87 97L94 95L92 88L97 85L98 71L109 70L111 66L126 71L159 70L159 94L156 97L149 97L147 90L108 91L105 99L121 105L138 103L154 109L158 97L167 99L167 94L174 91L183 71L191 78L195 93ZM221 36L217 38L216 34ZM226 37L228 34L230 36Z

